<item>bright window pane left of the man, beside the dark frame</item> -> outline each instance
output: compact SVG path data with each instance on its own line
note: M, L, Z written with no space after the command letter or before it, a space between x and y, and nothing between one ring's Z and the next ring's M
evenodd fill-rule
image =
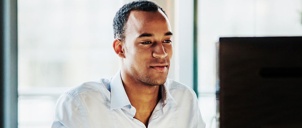
M124 2L18 1L18 125L49 127L66 89L119 69L112 21Z

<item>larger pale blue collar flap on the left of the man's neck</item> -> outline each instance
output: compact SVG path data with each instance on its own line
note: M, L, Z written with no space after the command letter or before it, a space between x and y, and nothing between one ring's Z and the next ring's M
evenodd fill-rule
M130 105L129 98L126 94L125 88L120 77L120 70L111 78L111 106L110 110Z

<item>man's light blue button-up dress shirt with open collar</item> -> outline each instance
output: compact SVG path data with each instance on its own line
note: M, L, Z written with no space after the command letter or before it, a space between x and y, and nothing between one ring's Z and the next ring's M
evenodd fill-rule
M167 79L162 98L149 119L148 128L204 128L195 92ZM133 118L120 71L111 79L86 82L64 92L56 103L52 128L145 128Z

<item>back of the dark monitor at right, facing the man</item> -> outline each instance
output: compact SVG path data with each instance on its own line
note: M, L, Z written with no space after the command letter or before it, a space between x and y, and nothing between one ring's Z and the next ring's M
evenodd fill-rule
M229 37L218 45L220 128L302 128L302 37Z

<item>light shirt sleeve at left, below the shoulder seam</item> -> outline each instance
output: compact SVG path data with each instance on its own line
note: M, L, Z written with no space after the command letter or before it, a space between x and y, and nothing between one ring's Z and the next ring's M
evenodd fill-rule
M51 128L84 128L83 118L76 99L68 94L62 94L59 97Z

